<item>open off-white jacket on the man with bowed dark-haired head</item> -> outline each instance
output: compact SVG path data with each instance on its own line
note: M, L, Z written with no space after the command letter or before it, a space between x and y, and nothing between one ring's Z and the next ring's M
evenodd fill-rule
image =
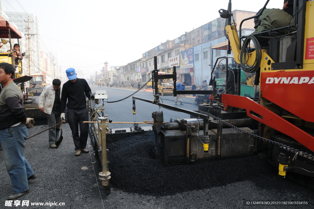
M44 107L44 112L51 115L53 103L55 101L56 91L53 89L52 84L45 86L41 95L39 96L39 108ZM62 87L60 86L60 99L61 99Z

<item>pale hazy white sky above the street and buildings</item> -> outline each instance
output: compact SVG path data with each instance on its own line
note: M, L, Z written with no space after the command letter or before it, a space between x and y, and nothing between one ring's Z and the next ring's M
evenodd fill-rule
M42 50L58 53L62 70L85 75L109 66L126 65L142 54L219 17L229 0L2 0L7 11L38 16ZM267 8L282 8L270 0ZM233 0L232 10L257 12L266 0ZM23 8L22 8L23 7ZM240 24L240 22L238 23Z

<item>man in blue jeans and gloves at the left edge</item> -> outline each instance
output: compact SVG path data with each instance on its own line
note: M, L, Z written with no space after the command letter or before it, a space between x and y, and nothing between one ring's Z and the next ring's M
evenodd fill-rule
M13 82L15 68L9 63L0 63L0 143L3 149L4 164L11 178L14 193L8 200L14 200L29 192L28 180L36 174L27 162L25 139L27 128L33 127L33 118L26 118L23 107L23 93Z

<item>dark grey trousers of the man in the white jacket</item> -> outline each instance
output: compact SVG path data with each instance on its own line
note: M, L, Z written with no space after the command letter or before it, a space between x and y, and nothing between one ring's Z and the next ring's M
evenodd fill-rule
M59 111L51 110L50 115L46 114L48 119L48 126L51 127L60 123L61 122L60 115L61 115L60 110ZM56 140L58 139L60 133L60 126L61 124L49 129L49 144L56 144Z

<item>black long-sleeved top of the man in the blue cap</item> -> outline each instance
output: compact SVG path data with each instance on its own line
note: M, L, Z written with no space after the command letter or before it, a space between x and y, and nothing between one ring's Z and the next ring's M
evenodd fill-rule
M86 99L90 97L90 88L88 83L83 78L77 78L75 83L67 81L63 84L62 94L61 94L61 112L65 111L65 107L71 109L82 109L86 107Z

